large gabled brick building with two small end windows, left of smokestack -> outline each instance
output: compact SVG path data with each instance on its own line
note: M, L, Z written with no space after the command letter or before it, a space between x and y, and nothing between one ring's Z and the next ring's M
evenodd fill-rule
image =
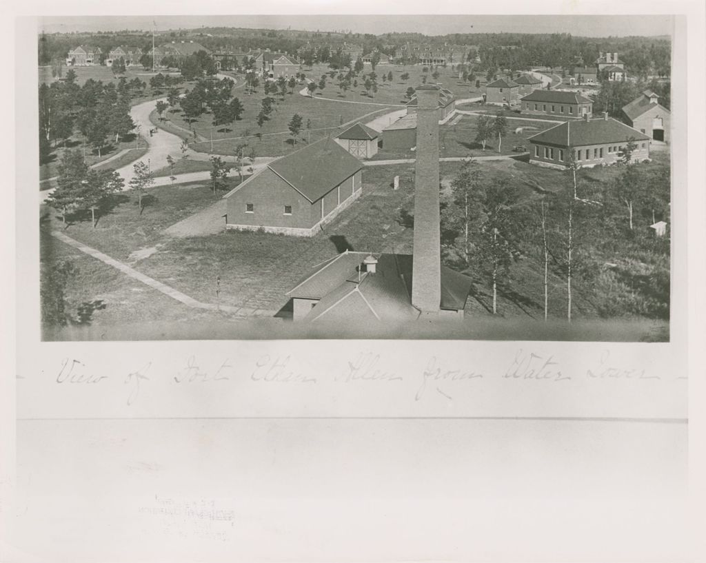
M331 138L311 143L224 196L226 229L313 236L361 194L362 168Z

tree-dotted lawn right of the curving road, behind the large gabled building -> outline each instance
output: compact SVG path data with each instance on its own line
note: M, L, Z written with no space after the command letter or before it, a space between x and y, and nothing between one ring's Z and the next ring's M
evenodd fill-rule
M281 156L301 148L302 143L313 143L328 135L335 135L342 123L360 119L363 122L371 121L379 114L390 111L392 108L369 106L363 104L334 104L318 99L301 96L295 87L294 94L275 95L273 114L270 119L258 127L256 116L261 108L263 99L262 87L252 95L247 95L244 90L234 90L244 106L244 113L240 121L235 121L227 128L213 127L213 117L210 113L201 115L196 121L187 123L181 116L181 111L169 112L164 121L159 121L156 113L152 114L155 125L169 133L189 139L189 146L200 152L211 152L211 134L213 133L213 152L220 155L232 155L239 144L247 143L249 152L254 148L258 156ZM294 114L299 114L304 122L304 130L299 133L299 140L295 145L289 133L289 121ZM309 128L306 124L309 123ZM212 131L213 129L213 131ZM193 133L196 132L196 138ZM261 134L258 138L257 134Z

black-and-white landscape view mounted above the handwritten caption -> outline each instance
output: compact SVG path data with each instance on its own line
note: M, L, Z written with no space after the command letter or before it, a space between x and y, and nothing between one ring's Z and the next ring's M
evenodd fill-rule
M44 339L669 341L674 18L396 20L40 18Z

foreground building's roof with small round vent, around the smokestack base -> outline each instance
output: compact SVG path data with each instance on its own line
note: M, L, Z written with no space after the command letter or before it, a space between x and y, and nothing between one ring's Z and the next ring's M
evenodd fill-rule
M360 272L367 252L345 252L321 262L302 278L287 295L320 301L305 320L374 317L378 320L413 319L419 310L412 306L412 262L409 254L376 254L375 274ZM465 307L471 279L441 267L441 308Z

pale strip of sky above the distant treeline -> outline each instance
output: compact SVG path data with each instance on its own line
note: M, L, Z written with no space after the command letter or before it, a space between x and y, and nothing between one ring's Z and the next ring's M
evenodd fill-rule
M167 31L209 27L271 30L450 33L570 33L582 37L672 35L670 16L48 16L39 18L40 31L97 32L120 30ZM156 25L156 27L155 27Z

